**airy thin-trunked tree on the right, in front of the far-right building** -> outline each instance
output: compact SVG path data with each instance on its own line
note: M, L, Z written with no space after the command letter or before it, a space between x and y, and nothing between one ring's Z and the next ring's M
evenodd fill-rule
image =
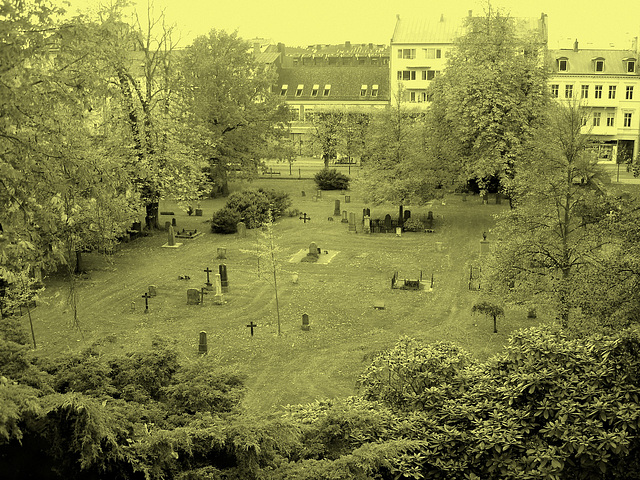
M583 132L588 112L557 104L516 163L517 202L495 229L492 288L512 300L551 303L564 326L584 303L578 288L602 262L610 241L598 177L601 170Z

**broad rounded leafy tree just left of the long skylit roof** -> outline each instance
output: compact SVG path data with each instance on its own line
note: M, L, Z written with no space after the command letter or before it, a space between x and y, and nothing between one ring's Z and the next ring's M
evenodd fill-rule
M180 115L221 190L229 175L255 176L265 145L286 135L289 111L272 92L275 75L236 32L212 30L180 56Z

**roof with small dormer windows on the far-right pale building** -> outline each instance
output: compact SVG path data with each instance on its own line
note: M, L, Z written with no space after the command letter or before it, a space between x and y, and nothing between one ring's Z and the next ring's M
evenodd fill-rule
M549 50L549 67L553 73L566 74L592 74L592 75L632 75L627 73L625 59L638 60L633 50L578 50L561 49ZM558 59L567 60L567 71L558 71ZM594 60L604 59L604 71L596 72ZM636 69L638 71L638 69Z

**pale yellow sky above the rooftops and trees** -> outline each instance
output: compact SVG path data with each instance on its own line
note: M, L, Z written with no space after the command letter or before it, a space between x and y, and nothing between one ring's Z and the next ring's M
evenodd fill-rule
M70 0L72 6L99 0ZM102 0L108 1L108 0ZM146 0L136 0L146 9ZM238 30L241 37L262 37L288 45L317 43L388 44L396 14L462 17L478 14L485 0L154 0L182 32L181 46L212 28ZM493 0L512 16L548 15L549 47L630 48L640 36L637 0Z

